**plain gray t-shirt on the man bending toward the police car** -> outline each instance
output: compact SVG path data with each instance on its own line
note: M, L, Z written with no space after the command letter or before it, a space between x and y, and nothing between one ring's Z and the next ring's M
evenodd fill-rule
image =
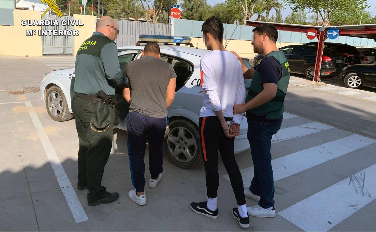
M129 112L165 118L167 86L170 79L176 78L172 66L154 56L144 56L130 62L125 72L132 89Z

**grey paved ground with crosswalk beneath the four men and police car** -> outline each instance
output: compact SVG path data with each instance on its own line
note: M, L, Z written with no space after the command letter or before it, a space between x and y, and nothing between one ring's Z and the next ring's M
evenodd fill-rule
M0 59L0 90L39 85L43 70L34 73L19 70L19 77L10 78L12 70L8 67L17 66L20 60L3 56ZM24 70L29 70L22 64ZM375 230L374 106L371 101L291 84L285 104L285 111L291 114L285 114L271 149L277 215L251 218L247 230ZM33 119L33 114L37 118ZM167 158L163 179L155 189L146 187L147 205L138 206L127 197L132 183L126 132L115 130L103 185L109 191L118 191L120 198L109 205L89 207L87 190L76 190L78 138L74 120L51 120L39 93L9 95L7 91L0 92L0 116L1 231L244 230L232 218L231 209L236 201L221 161L217 220L194 214L188 206L191 201L206 200L203 166L183 170ZM38 121L42 132L36 126ZM46 139L53 151L46 149ZM51 161L50 152L56 153L57 161ZM148 162L148 155L145 161ZM246 184L252 177L250 152L237 155L237 161ZM56 177L53 169L56 162L61 163L71 186L59 185L60 177ZM146 179L149 175L146 171ZM341 184L344 182L346 185ZM77 207L83 208L88 220L76 223L64 195L67 187L73 187L79 200ZM247 206L256 204L252 199L246 200Z

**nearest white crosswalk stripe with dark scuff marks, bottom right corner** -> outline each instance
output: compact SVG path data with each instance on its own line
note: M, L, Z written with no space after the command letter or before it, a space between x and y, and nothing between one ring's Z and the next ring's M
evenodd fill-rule
M376 164L278 214L305 231L328 231L376 199L375 176Z

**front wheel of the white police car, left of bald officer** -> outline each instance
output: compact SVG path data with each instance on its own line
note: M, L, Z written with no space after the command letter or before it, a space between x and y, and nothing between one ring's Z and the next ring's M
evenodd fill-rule
M73 118L73 115L69 112L67 99L58 86L53 85L47 89L45 104L47 113L53 120L68 121Z

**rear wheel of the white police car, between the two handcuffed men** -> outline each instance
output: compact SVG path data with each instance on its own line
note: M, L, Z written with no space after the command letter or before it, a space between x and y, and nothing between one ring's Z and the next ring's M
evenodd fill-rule
M180 168L194 168L202 162L198 127L188 120L173 120L166 129L164 153Z

